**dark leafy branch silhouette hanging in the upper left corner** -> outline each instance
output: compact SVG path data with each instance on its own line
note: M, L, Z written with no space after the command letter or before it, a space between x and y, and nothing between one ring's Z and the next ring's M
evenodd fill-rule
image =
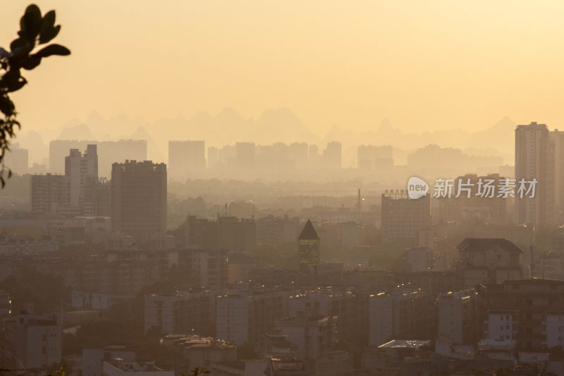
M61 25L55 25L55 11L49 11L42 16L39 7L35 4L27 6L20 19L18 37L10 44L10 51L0 47L0 71L4 71L0 78L0 112L4 119L0 119L0 184L6 185L4 174L8 178L12 171L6 168L4 157L10 151L10 141L16 136L16 128L20 123L16 119L16 105L13 104L9 94L20 90L27 80L21 75L21 70L31 71L39 66L42 59L53 56L66 56L71 54L68 48L60 44L49 44L32 53L35 47L46 44L59 34Z

